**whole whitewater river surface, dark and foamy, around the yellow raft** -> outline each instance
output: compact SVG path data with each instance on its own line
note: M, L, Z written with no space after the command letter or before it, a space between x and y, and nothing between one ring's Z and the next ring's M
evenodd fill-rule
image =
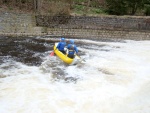
M72 66L55 41L0 37L0 113L150 113L149 40L75 39Z

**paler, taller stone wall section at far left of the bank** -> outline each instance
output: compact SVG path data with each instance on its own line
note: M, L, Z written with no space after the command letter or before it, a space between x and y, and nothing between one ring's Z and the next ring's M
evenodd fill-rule
M37 35L45 33L36 26L33 14L0 12L0 35Z

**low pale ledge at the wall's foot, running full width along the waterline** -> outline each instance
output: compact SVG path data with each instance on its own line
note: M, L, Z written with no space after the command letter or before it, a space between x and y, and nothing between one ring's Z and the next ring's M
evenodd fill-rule
M116 31L116 30L90 30L90 29L55 29L48 28L42 33L42 27L35 27L33 33L0 33L2 36L65 36L74 38L99 38L99 39L131 39L150 40L150 32L138 31Z

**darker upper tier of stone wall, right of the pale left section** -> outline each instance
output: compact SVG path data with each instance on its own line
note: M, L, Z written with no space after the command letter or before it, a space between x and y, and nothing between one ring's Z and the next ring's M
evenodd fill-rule
M132 16L36 16L39 26L65 29L107 29L150 31L150 17Z

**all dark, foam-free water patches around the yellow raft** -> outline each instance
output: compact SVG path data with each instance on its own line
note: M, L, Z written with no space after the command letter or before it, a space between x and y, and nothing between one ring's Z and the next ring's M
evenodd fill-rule
M69 38L66 38L69 41ZM77 47L89 49L89 50L99 50L105 45L96 45L91 43L85 43L85 39L76 39L75 44ZM11 69L15 67L15 62L20 62L28 66L42 66L45 56L49 56L50 52L53 51L53 46L55 42L59 42L58 37L2 37L0 36L0 64L5 63L5 66L1 68L4 70ZM99 40L97 40L99 41ZM104 41L104 40L101 40ZM108 41L108 40L106 40ZM112 40L109 40L112 42ZM97 49L96 49L97 48ZM101 49L101 51L110 51L107 49ZM86 53L79 50L79 56L83 56ZM6 65L8 63L8 65ZM48 64L48 65L47 65ZM56 79L63 79L65 81L76 81L77 78L66 78L65 76L65 63L60 60L52 59L48 61L47 66L43 68L44 73L53 73L53 77ZM61 68L59 66L62 66ZM17 68L17 67L16 67ZM61 75L61 76L60 76Z

